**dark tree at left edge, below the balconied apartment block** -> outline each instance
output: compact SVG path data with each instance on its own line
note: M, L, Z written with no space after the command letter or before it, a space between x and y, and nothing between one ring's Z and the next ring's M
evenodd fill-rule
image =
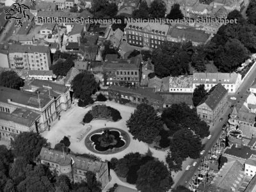
M0 86L5 86L15 90L19 90L20 87L24 86L24 82L17 75L16 72L12 70L3 71L0 74Z

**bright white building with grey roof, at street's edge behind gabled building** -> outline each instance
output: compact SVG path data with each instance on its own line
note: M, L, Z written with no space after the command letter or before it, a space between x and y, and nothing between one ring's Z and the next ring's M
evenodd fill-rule
M194 73L193 74L193 90L199 84L205 85L205 90L209 91L213 86L221 83L228 93L236 93L242 82L241 74L236 73Z

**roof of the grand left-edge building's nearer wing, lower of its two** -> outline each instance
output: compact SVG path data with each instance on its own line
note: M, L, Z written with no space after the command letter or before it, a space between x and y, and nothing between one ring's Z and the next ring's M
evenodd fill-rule
M0 119L26 125L27 127L30 127L38 118L40 118L40 115L29 109L17 108L11 114L0 112Z

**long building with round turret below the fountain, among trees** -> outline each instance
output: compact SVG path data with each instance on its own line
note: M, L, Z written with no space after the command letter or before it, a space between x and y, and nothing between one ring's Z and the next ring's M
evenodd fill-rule
M104 188L109 182L109 168L107 162L94 161L75 154L67 154L52 148L42 147L38 161L56 170L58 175L65 174L71 181L86 181L86 172L95 173L96 179Z

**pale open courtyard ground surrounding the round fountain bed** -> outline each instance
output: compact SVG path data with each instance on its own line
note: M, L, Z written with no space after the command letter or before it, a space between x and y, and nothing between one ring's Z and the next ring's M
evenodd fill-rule
M51 126L50 131L43 132L42 136L44 136L44 138L46 138L47 141L51 143L52 148L54 148L56 143L58 143L64 136L69 136L71 143L69 148L72 152L74 152L75 154L93 154L97 157L100 157L102 161L109 161L112 157L120 159L124 157L125 154L128 154L130 152L140 152L140 154L145 154L147 152L147 143L143 143L142 141L138 140L133 140L132 135L129 133L128 128L126 126L126 121L129 119L131 113L134 111L135 108L132 108L130 106L124 106L111 101L99 103L96 102L95 104L106 104L106 106L111 106L112 108L117 109L118 111L120 111L122 119L118 122L110 122L107 120L93 120L92 122L90 122L90 124L83 125L81 124L83 117L90 109L92 109L92 106L88 108L80 108L78 106L72 105L72 108L68 109L68 111L61 112L60 120L57 120ZM81 140L77 140L77 136L81 135L81 132L86 131L86 129L90 126L92 126L92 129L86 132L86 134L84 134ZM129 146L115 154L97 154L92 152L91 150L88 150L88 148L86 148L86 146L84 145L84 140L86 136L88 136L93 131L105 127L122 129L122 131L127 132L131 139ZM153 156L157 157L159 161L165 161L166 152L156 150L154 148L150 148L150 150L152 151Z

